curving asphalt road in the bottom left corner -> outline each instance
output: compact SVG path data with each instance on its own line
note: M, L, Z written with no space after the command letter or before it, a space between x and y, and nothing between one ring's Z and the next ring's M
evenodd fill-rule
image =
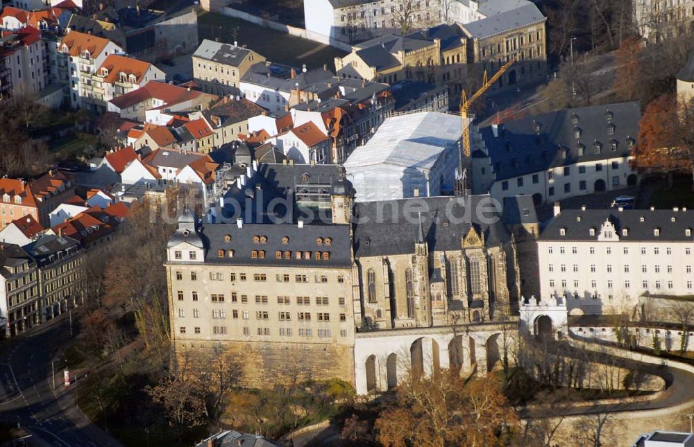
M65 389L51 358L68 337L65 318L8 340L0 347L0 420L21 423L49 446L120 446L94 426L75 405L74 387ZM56 372L62 378L62 368ZM56 375L58 376L58 375Z

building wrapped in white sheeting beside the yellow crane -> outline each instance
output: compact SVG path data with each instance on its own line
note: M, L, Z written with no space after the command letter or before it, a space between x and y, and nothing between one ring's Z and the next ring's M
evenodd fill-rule
M462 135L460 116L391 116L345 161L357 202L451 193Z

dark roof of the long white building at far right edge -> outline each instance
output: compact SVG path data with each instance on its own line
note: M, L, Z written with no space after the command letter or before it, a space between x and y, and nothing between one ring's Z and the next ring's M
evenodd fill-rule
M579 219L580 218L580 219ZM641 222L643 218L643 222ZM675 221L672 221L675 218ZM693 236L686 236L686 230L694 231L694 211L644 210L627 209L568 209L552 218L541 231L541 240L598 240L602 223L609 219L615 226L620 240L623 241L679 241L693 242ZM561 236L561 229L566 236ZM591 236L591 228L595 235ZM627 236L622 230L627 229ZM654 229L660 229L660 236L655 236Z

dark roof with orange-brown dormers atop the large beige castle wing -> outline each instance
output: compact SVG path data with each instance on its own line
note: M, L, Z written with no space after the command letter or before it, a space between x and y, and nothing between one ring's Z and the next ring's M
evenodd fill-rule
M335 268L352 265L350 254L350 236L348 225L298 225L282 224L244 224L239 228L236 223L204 224L198 232L205 245L205 262L230 265L259 265L287 267ZM231 236L231 242L224 242L224 236ZM265 236L265 244L254 243L254 236ZM282 244L287 236L289 243ZM331 238L330 246L317 245L316 238ZM217 257L217 250L234 250L231 258ZM253 250L265 250L265 257L252 258ZM277 259L277 251L292 252L290 259ZM294 252L311 252L310 259L296 259ZM314 252L330 252L330 259L316 259Z

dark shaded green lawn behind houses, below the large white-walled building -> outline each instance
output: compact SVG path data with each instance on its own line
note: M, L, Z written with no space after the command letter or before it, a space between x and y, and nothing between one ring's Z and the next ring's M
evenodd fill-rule
M198 33L201 40L219 37L221 42L228 44L236 40L239 45L246 45L271 62L291 67L306 64L312 69L328 64L328 68L335 71L335 57L346 55L346 52L332 46L214 12L201 13L198 17Z

